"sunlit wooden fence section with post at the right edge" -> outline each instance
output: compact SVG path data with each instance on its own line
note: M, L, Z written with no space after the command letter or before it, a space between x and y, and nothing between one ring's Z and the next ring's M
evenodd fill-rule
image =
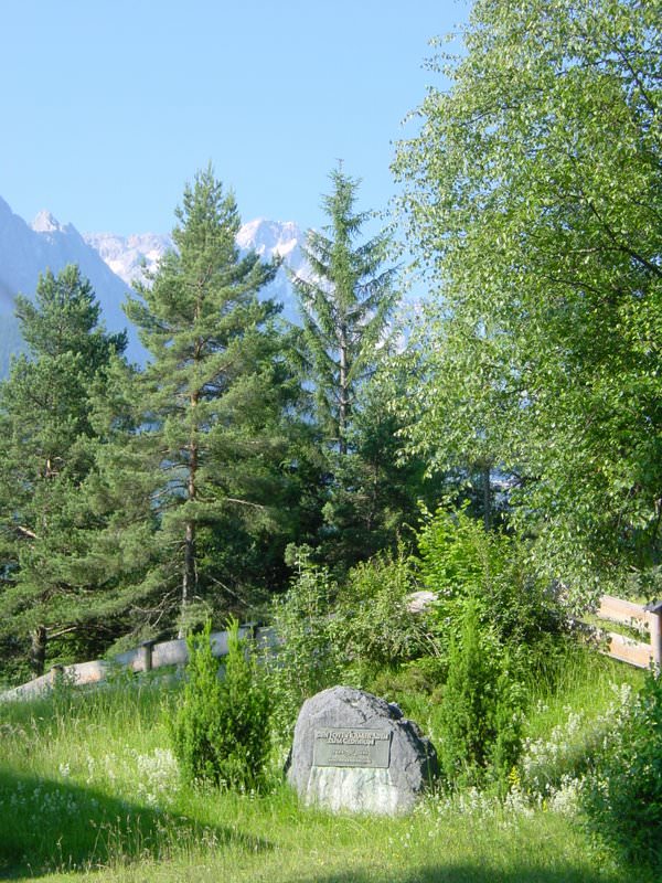
M596 615L606 623L629 626L641 636L637 639L600 628L608 656L637 668L662 670L662 602L643 605L602 595Z

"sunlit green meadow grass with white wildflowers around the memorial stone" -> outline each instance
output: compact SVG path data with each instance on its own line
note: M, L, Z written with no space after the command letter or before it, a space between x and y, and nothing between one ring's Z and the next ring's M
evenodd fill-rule
M586 653L536 682L528 724L540 744L568 715L580 751L640 672ZM275 764L265 795L181 783L169 749L177 688L128 681L0 705L0 877L138 883L652 883L598 852L573 817L543 802L429 796L406 818L302 808ZM414 704L424 711L420 696ZM434 728L434 710L424 727ZM592 722L592 723L591 723ZM559 762L555 756L555 762Z

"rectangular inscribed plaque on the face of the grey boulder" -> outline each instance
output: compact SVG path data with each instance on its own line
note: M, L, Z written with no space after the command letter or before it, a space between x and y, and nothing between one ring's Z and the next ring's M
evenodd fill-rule
M387 769L391 730L362 727L314 731L313 766L361 766Z

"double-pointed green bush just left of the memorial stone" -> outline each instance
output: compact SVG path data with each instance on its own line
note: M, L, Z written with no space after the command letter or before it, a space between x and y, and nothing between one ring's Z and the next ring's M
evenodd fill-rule
M270 751L270 701L263 673L239 638L239 624L227 627L225 677L212 655L211 624L189 636L183 696L171 727L173 751L184 777L244 790L264 781Z

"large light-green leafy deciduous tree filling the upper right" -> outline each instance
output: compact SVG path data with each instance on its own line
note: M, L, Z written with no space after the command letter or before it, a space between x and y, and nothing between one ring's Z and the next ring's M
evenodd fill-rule
M662 554L659 0L478 0L401 146L436 304L402 402L433 469L511 474L586 602Z

